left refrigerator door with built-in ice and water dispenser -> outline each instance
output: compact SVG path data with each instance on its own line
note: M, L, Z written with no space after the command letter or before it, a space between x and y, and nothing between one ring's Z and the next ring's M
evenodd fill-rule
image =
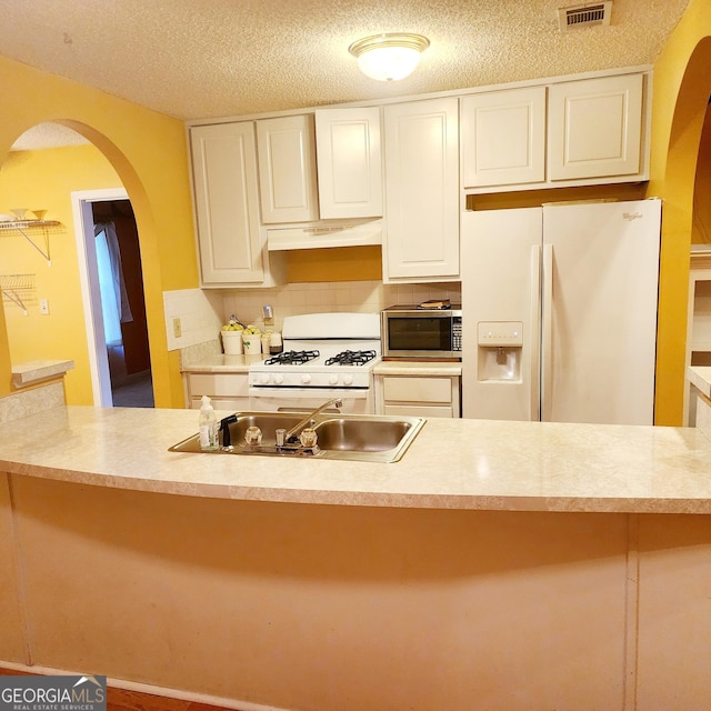
M465 418L539 419L541 234L540 208L462 214Z

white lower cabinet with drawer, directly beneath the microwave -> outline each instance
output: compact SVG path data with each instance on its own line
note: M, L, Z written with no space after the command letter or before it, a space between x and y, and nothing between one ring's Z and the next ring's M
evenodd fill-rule
M375 414L459 418L459 375L375 374Z

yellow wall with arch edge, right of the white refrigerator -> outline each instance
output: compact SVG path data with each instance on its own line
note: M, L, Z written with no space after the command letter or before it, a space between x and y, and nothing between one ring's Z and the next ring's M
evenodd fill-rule
M694 178L711 93L711 4L691 0L654 64L651 180L664 200L657 347L658 424L683 414Z

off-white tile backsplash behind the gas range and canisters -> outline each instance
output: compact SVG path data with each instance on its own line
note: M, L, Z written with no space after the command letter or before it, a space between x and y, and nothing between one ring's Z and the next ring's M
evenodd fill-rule
M273 289L203 291L181 289L163 292L168 350L183 349L218 339L220 327L234 313L242 323L260 330L280 331L284 317L330 311L378 312L395 303L428 299L461 302L461 283L383 284L381 281L290 283ZM271 306L273 326L264 326L262 307ZM174 320L180 321L176 336Z

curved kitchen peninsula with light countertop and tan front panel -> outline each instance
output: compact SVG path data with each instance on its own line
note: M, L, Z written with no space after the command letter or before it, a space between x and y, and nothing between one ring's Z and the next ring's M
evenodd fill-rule
M228 414L218 412L218 415ZM711 442L429 420L392 464L0 430L0 664L244 711L711 708Z

